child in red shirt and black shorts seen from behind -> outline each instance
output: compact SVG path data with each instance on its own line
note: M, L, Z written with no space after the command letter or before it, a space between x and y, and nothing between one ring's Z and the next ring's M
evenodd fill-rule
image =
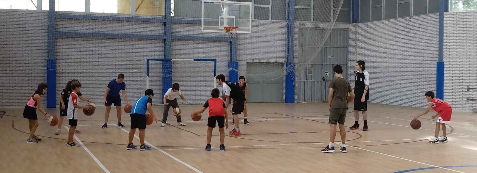
M199 110L194 111L192 116L203 113L207 107L209 108L209 116L207 122L207 145L206 150L210 151L210 140L212 139L212 130L215 128L215 122L218 124L218 132L220 133L220 151L225 151L224 139L225 129L228 129L228 113L227 108L221 98L218 98L220 91L217 88L212 89L212 98L208 99L206 104ZM225 124L224 124L225 123Z

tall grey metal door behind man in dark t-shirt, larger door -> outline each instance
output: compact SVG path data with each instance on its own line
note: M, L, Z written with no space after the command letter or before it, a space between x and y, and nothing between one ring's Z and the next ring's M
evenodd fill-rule
M323 77L328 72L334 78L335 65L343 67L345 79L348 76L348 30L333 29L320 48L326 32L327 29L299 29L298 101L328 101L330 82Z

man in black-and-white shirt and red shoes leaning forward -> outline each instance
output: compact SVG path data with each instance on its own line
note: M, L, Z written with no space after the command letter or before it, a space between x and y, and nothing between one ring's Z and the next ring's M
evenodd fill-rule
M234 117L234 121L239 122L239 114L243 112L243 107L246 101L245 94L239 86L233 84L232 82L225 81L224 75L218 75L215 78L217 84L223 86L224 95L226 97L225 107L228 108L228 101L230 98L233 99L232 115ZM235 128L228 133L230 133L231 136L240 136L239 123L235 123Z

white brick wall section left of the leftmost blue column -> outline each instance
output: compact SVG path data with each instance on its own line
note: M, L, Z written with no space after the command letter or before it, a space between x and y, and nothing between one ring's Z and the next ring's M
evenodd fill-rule
M46 83L47 15L46 11L0 10L0 107L26 105L38 84ZM46 95L42 103L46 107Z

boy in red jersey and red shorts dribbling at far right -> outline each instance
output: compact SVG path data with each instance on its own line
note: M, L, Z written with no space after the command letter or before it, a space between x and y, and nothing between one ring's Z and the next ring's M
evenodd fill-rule
M419 116L426 115L431 107L434 109L434 111L437 112L436 115L432 116L432 119L437 118L436 122L436 135L434 136L434 139L430 140L429 143L431 144L439 144L440 142L447 142L447 136L446 136L446 124L450 123L450 117L452 116L452 106L450 106L446 101L440 99L440 98L434 98L434 92L432 91L427 91L425 93L425 99L429 101L429 105L427 105L427 109L414 117L414 119L419 118ZM442 133L444 134L441 138L439 138L439 127L442 125Z

